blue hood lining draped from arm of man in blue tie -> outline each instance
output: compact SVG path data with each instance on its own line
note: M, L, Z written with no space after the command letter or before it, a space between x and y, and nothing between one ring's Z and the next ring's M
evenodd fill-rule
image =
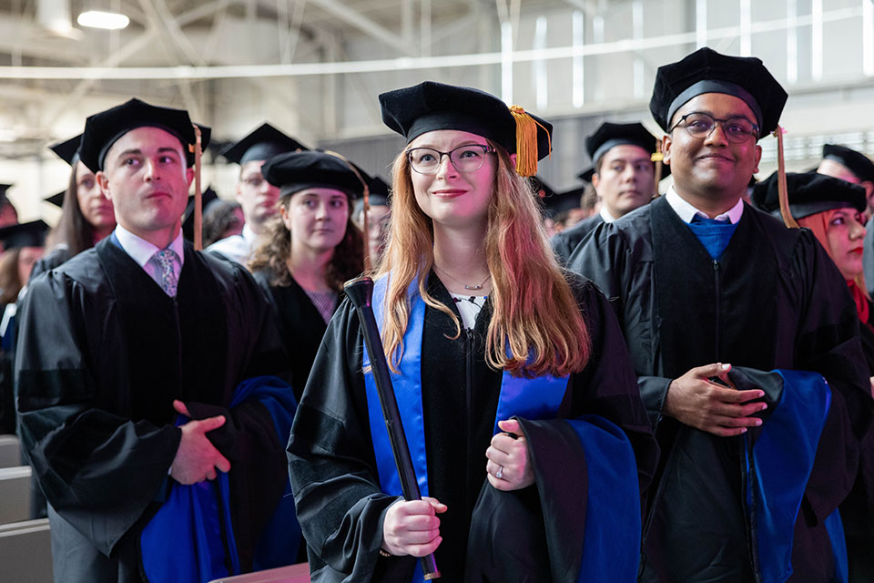
M762 583L782 583L792 575L792 537L798 510L828 417L831 390L818 373L776 371L783 394L752 445L747 443L747 507L754 508L758 571ZM848 580L847 547L836 509L825 520L835 561L835 578Z

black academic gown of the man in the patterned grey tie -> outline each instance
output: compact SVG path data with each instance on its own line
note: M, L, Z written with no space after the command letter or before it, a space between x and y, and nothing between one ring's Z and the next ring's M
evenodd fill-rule
M20 435L50 505L58 581L138 581L141 527L181 438L171 403L227 415L242 563L284 485L284 452L258 403L229 411L250 376L281 370L272 313L249 273L185 245L178 295L108 238L32 281L19 312Z

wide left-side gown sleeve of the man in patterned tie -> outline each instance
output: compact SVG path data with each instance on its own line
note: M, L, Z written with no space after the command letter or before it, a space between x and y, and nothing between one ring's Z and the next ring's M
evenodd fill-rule
M21 306L15 379L22 444L46 499L108 556L158 494L181 432L102 407L94 367L111 366L121 345L107 326L109 299L102 302L86 301L60 271L33 281ZM86 338L97 355L85 353Z

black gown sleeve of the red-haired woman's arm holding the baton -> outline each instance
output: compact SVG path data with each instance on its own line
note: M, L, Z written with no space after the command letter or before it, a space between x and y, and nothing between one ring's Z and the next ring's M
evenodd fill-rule
M371 580L385 511L361 373L361 325L345 300L330 321L291 427L291 489L318 580Z

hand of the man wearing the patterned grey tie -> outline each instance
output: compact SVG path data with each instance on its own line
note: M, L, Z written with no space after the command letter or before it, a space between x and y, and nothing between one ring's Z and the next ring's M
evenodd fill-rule
M181 401L174 401L173 408L186 416L188 407ZM216 479L216 470L230 471L228 458L219 453L209 442L207 434L225 424L224 415L208 417L199 421L189 421L180 427L182 440L176 450L176 457L170 465L170 476L179 484L196 484L203 480Z

